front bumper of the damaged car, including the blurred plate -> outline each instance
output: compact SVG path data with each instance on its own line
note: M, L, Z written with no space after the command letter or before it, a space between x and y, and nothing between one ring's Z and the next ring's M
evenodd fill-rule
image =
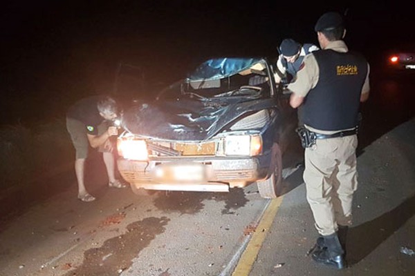
M257 157L159 157L118 159L118 170L134 188L227 192L266 179L270 153Z

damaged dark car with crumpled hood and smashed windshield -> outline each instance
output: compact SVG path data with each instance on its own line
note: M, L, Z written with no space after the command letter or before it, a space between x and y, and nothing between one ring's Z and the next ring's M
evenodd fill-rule
M257 184L261 197L275 198L297 117L267 59L218 58L154 101L136 101L122 124L118 170L135 193L228 192Z

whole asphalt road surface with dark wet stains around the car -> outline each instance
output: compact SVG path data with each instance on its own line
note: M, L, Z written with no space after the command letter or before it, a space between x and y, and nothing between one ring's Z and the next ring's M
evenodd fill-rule
M138 196L107 188L95 160L96 201L78 201L74 179L62 179L71 188L3 222L0 275L414 275L415 90L407 76L377 80L362 106L350 268L306 256L317 234L293 148L274 200L255 186Z

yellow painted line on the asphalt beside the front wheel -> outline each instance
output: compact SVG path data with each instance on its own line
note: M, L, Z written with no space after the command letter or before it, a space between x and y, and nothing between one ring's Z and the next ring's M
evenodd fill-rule
M232 276L248 276L252 266L257 259L259 249L261 249L264 239L270 230L271 225L273 224L275 215L279 206L282 203L282 197L277 197L276 199L271 199L270 204L266 208L264 215L259 221L257 229L252 235L250 242L246 246L246 250L243 252L241 259L232 273Z

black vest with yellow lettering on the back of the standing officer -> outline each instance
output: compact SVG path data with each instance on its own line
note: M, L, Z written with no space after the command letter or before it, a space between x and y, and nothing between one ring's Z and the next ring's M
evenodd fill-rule
M356 52L313 52L320 75L299 109L300 121L318 130L344 130L358 125L360 93L367 61Z

